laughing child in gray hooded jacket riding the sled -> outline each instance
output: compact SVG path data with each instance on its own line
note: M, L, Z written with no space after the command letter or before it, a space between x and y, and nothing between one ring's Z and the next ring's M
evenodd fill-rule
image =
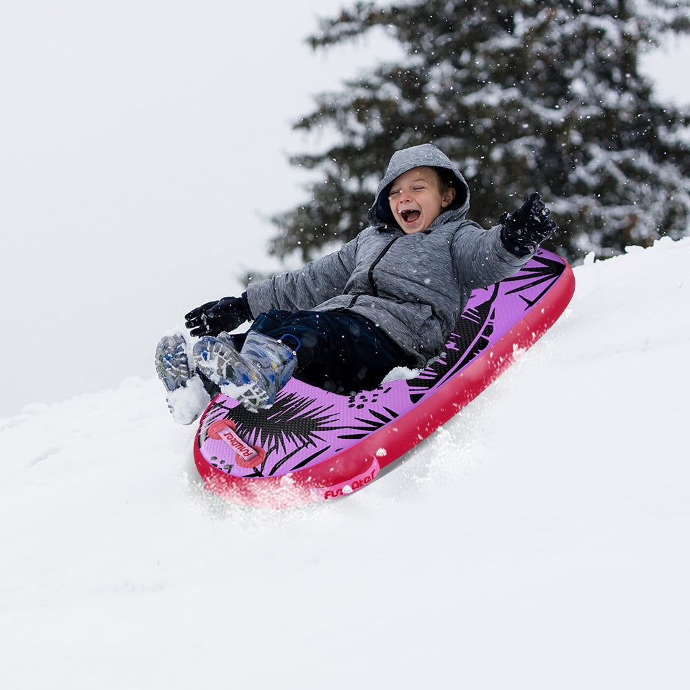
M556 228L537 193L491 230L468 210L469 187L444 153L431 144L396 152L355 239L190 311L193 348L182 335L161 340L157 372L175 420L193 422L218 391L268 407L294 374L348 395L396 366L424 368L472 290L516 273ZM228 335L245 321L248 333Z

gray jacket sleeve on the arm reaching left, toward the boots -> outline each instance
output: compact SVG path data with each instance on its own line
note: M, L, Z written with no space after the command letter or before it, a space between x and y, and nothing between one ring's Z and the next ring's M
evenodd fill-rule
M326 299L341 295L355 267L356 253L355 237L339 251L302 268L250 284L247 299L252 315L257 317L269 309L311 310Z

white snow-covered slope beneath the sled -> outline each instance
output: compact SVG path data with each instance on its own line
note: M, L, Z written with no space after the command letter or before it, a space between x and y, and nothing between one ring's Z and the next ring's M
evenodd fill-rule
M689 687L690 239L575 279L336 502L204 491L156 380L0 420L3 687Z

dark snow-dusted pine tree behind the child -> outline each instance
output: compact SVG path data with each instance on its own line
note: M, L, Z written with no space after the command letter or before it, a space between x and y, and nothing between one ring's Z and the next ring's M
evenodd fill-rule
M460 166L469 217L485 227L538 190L569 259L687 233L690 117L655 99L644 50L690 32L690 2L359 2L323 20L315 49L389 32L406 57L317 97L295 128L337 144L297 155L317 170L311 201L273 221L270 247L309 259L366 225L391 154L431 142ZM684 139L683 137L686 137Z

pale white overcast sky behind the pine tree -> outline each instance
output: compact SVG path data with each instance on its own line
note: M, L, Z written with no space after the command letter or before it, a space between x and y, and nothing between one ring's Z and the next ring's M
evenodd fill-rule
M395 51L378 34L311 52L343 4L3 5L0 416L152 376L162 332L242 290L267 218L304 199L286 157L319 141L291 125ZM650 67L663 95L690 61L673 53Z

